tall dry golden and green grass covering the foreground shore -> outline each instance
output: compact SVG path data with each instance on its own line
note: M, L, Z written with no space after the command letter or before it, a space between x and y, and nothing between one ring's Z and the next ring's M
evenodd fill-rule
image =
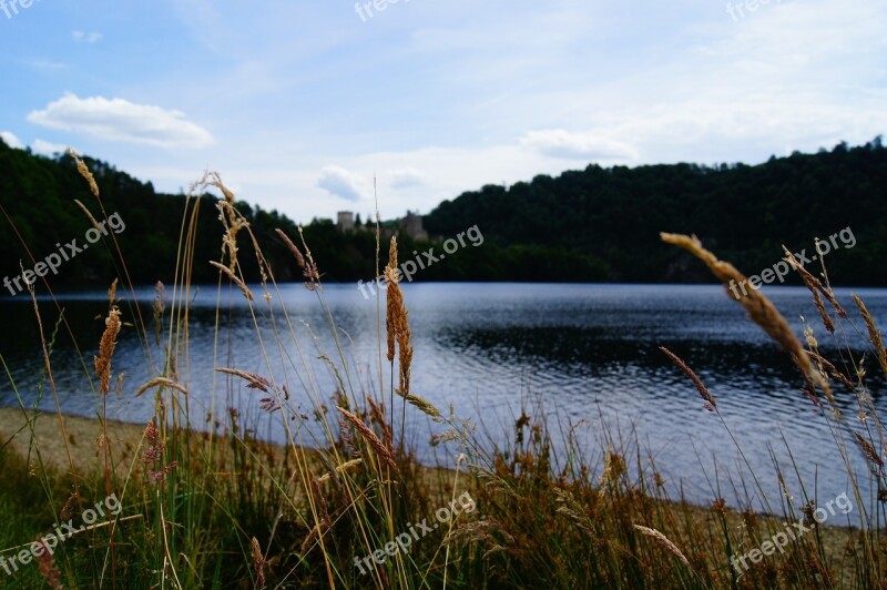
M85 166L80 170L90 182ZM95 218L101 220L101 195L90 185L100 212ZM395 241L385 269L391 286L386 301L377 301L378 359L367 370L349 360L324 295L322 265L299 236L279 235L325 311L324 328L336 343L334 350L315 354L314 344L298 335L297 319L273 304L281 299L274 269L234 196L214 175L190 194L205 190L222 195L222 256L213 261L220 297L225 289L237 289L249 305L255 329L253 342L238 336L233 345L261 350L264 369L247 372L227 360L233 335L225 323L227 311L220 305L212 401L206 424L192 423L191 416L206 409L192 399L187 379L190 276L195 264L204 264L193 256L201 200L188 200L176 281L171 288L157 287L153 318L142 317L137 306L121 309L116 283L109 292L99 354L83 360L94 384L96 420L60 411L52 349L54 334L67 323L62 318L53 327L45 325L34 304L44 378L38 391L20 393L10 377L20 407L0 411L0 548L6 548L0 557L19 556L22 546L41 538L48 542L57 523L85 521L85 511L103 499L118 499L120 510L84 522L89 526L59 542L52 555L37 551L37 562L23 562L27 555L19 558L9 574L0 572L4 587L738 589L887 583L884 431L863 360L847 344L849 334L868 336L869 357L878 370L887 372L887 354L863 302L856 302L854 314L845 311L832 295L827 275L820 282L796 268L810 288L827 337L838 345L838 358L820 355L813 326L802 344L763 294L752 292L740 301L751 321L795 360L798 379L807 387L807 397L798 396L797 403L816 405L853 481L853 520L814 527L816 509L833 499L816 498L807 487L801 498L787 489L767 497L759 479L764 476L751 472L730 479L734 492L727 501L721 474L705 474L714 482L713 500L694 506L670 496L653 454L643 449L635 431L602 421L594 434L603 452L590 457L577 442L581 425L549 424L540 403L527 403L504 437L509 442L497 445L503 439L500 433L478 434L473 420L416 395L410 388L415 350L409 302L396 281ZM123 253L110 238L122 282L134 292ZM663 238L701 258L725 285L744 278L695 238ZM247 284L256 277L244 277L237 260L237 243L244 240L256 246L261 283L255 292ZM377 266L383 247L377 242ZM152 375L146 384L128 384L114 373L123 330L134 330L142 342ZM667 348L663 354L685 374L687 387L700 393L725 436L733 437L716 396L684 360ZM323 390L318 370L334 377L335 390ZM109 420L105 400L116 389L152 396L152 420L139 427ZM284 428L285 445L258 440L249 426L255 417L227 407L231 394L241 390L255 395L261 411ZM57 411L33 410L24 401L33 395L51 396ZM859 416L840 414L836 395L854 396ZM434 444L455 460L419 464L404 442L405 423L419 419L436 425ZM856 452L866 457L868 471L852 468ZM736 455L744 457L738 445ZM799 471L794 464L776 468L781 482L786 470ZM871 502L864 494L869 489L875 490ZM761 500L764 511L755 510ZM442 511L450 517L437 516ZM809 530L786 538L784 551L748 561L747 571L732 566L779 538L786 523Z

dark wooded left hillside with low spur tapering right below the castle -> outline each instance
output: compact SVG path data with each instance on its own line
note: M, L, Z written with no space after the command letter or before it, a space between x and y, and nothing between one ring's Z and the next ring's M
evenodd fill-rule
M142 183L113 166L90 157L85 163L95 176L108 215L119 214L125 226L114 233L123 252L126 269L133 282L169 283L175 273L176 251L185 212L184 195L161 194L151 183ZM0 281L20 274L19 261L26 269L61 251L78 240L85 244L84 234L91 222L77 206L79 200L96 218L102 218L99 204L80 176L69 155L45 157L30 151L14 150L0 140ZM192 206L194 206L192 202ZM278 281L300 281L300 269L292 254L281 242L275 228L283 228L299 243L293 221L276 211L238 202L237 207L249 220L259 246L272 264ZM387 222L385 226L396 226ZM461 227L460 231L465 230ZM371 281L376 276L376 236L369 230L343 233L329 220L314 220L304 228L305 238L326 282ZM220 260L222 225L215 202L201 197L195 242L193 281L212 282L218 271L208 261ZM110 236L109 236L110 237ZM450 236L445 236L445 238ZM424 260L421 254L441 244L434 241L414 241L398 233L401 262ZM113 247L112 244L108 244ZM242 234L238 240L238 260L249 281L258 281L257 265L252 244ZM65 261L58 275L51 277L52 286L106 286L119 276L124 277L115 257L108 247L93 247ZM381 247L384 265L388 247ZM547 261L554 261L549 263ZM115 266L116 265L116 266ZM540 272L541 268L541 272ZM426 267L417 281L593 281L603 278L606 268L593 257L542 246L512 244L500 246L483 243L482 247L468 244L446 264ZM9 287L6 287L9 288ZM0 295L10 294L0 291Z

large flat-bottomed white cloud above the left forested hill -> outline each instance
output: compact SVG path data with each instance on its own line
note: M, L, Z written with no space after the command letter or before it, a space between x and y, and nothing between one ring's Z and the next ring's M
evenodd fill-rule
M30 112L28 121L105 141L160 148L204 148L214 142L208 131L184 119L180 111L124 99L80 99L70 92L49 103L44 110Z

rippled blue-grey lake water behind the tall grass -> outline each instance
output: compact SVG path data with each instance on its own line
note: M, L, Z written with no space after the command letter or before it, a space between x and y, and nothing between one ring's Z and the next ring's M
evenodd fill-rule
M847 489L834 435L802 391L797 370L757 326L745 319L740 305L728 299L720 286L417 283L405 285L404 291L416 347L414 391L441 409L452 405L460 417L473 418L480 424L479 430L486 430L498 442L513 437L513 423L522 405L541 401L558 439L562 438L559 424L565 431L568 424L584 420L575 431L591 457L601 455L602 421L609 424L614 436L621 430L626 439L634 440L634 431L642 451L654 456L672 490L680 488L694 501L707 502L724 496L734 503L734 484L740 485L735 474L741 470L736 447L717 416L703 409L692 384L657 349L667 346L696 370L716 397L727 426L772 500L778 502L772 457L782 461L792 494L801 497L783 437L808 491L815 484L825 501ZM887 325L887 291L854 291L866 301L879 324ZM808 318L820 346L834 359L836 348L806 289L778 287L765 292L798 335L799 316ZM256 288L255 293L261 291ZM838 298L852 311L855 306L849 293L837 291ZM370 380L367 375L377 375L378 367L376 302L365 299L353 284L328 285L325 294L351 367L349 377L354 383L366 384ZM139 289L136 296L147 322L153 289ZM192 419L205 425L207 413L223 416L226 407L233 406L259 436L283 440L277 419L269 420L258 408L261 395L236 379L227 382L216 374L213 380L214 363L268 374L257 345L259 334L239 291L225 288L220 295L210 286L196 289L192 297L190 354L182 355L179 366L191 391ZM220 297L218 321L224 327L216 342L214 323ZM62 410L95 416L92 357L103 329L103 322L96 317L106 313L106 294L67 294L58 301L77 335L74 344L62 327L52 352ZM290 315L308 372L287 335L281 303ZM317 295L300 284L287 285L279 296L275 295L273 304L274 319L263 301L255 306L272 369L279 379L286 375L289 390L303 409L309 405L302 384L309 379L329 401L336 388L335 375L318 357L327 354L337 365L340 360ZM171 307L169 302L167 313ZM41 299L40 308L44 330L51 333L59 317L57 305ZM121 308L124 319L131 321L135 313L131 297L124 298ZM850 315L858 317L853 312ZM0 299L0 317L4 327L0 354L22 400L33 404L43 360L32 305L23 296ZM273 325L284 330L283 354L275 346ZM861 322L848 326L847 337L857 354L866 349L864 335ZM153 332L151 340L151 355L156 363L161 355L153 344ZM887 416L884 380L870 355L868 358L875 405L881 416ZM86 359L85 365L82 359ZM120 337L113 370L126 372L126 376L124 395L109 397L110 416L145 423L153 411L153 394L137 399L133 394L150 377L149 353L132 328L125 328ZM388 369L384 373L387 377ZM838 398L846 425L857 428L855 399L844 391L838 393ZM0 404L18 404L8 378L0 385ZM54 409L49 388L44 389L40 406ZM310 426L304 428L303 440L310 442L314 430ZM429 435L440 430L439 425L408 410L407 436L429 462L446 460L440 448L428 444ZM864 475L858 449L853 445L848 448L855 467ZM713 491L718 486L715 472L720 476L720 492Z

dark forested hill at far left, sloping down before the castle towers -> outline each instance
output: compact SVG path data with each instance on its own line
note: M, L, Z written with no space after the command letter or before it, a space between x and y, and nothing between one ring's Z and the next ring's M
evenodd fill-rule
M95 176L105 212L119 214L120 224L115 225L124 227L115 237L132 279L143 284L172 281L185 197L159 194L151 183L142 183L104 162L90 157L84 161ZM34 268L34 260L43 261L62 248L68 252L64 245L60 248L57 244L77 240L75 247L88 245L84 236L92 225L74 203L75 199L96 218L102 218L95 197L70 155L44 157L11 149L0 141L0 278L20 274L19 261L30 269ZM210 260L220 258L221 252L222 227L214 204L210 199L202 199L198 207L195 281L212 281L217 276L217 271L208 265ZM268 246L267 254L282 263L283 273L290 273L288 253L271 236L277 226L294 231L293 223L245 203L238 206ZM239 244L241 260L254 272L254 256L247 242L243 240ZM111 255L110 238L105 238L105 246L96 244L64 261L50 284L106 287L114 277L123 278L122 267ZM9 293L3 289L0 295Z

